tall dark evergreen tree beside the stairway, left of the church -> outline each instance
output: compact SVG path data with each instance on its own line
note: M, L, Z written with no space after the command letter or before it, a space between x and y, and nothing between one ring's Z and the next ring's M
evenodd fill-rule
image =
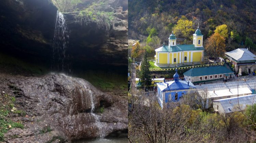
M150 75L150 63L147 61L147 52L144 54L144 58L141 63L141 71L139 72L139 78L143 87L151 85L151 75Z

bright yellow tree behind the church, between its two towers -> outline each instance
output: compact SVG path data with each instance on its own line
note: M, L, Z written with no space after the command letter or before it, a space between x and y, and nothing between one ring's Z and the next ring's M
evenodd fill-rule
M178 20L177 25L173 27L173 33L177 37L184 37L186 39L192 39L193 29L193 21L188 20L185 16L182 16L180 20Z

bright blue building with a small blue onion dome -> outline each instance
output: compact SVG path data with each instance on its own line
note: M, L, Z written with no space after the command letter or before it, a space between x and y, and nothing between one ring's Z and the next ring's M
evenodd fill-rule
M174 81L157 83L157 98L162 109L164 104L170 101L179 101L189 89L196 88L192 82L179 80L179 77L176 69L176 73L173 75Z

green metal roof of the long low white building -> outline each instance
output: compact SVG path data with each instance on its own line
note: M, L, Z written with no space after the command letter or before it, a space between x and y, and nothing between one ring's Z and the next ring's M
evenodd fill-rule
M191 68L187 72L185 72L183 75L188 77L199 77L199 76L229 74L229 73L234 73L234 72L224 66L209 66L209 67Z

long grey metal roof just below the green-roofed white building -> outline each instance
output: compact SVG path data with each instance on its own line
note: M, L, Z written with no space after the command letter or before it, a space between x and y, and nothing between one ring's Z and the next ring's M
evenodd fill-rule
M221 82L221 83L201 84L201 85L195 85L195 87L197 89L207 89L208 91L235 89L237 87L238 88L248 87L250 90L254 90L256 88L256 77L252 77L251 80L246 80L246 81L229 81L226 83Z

